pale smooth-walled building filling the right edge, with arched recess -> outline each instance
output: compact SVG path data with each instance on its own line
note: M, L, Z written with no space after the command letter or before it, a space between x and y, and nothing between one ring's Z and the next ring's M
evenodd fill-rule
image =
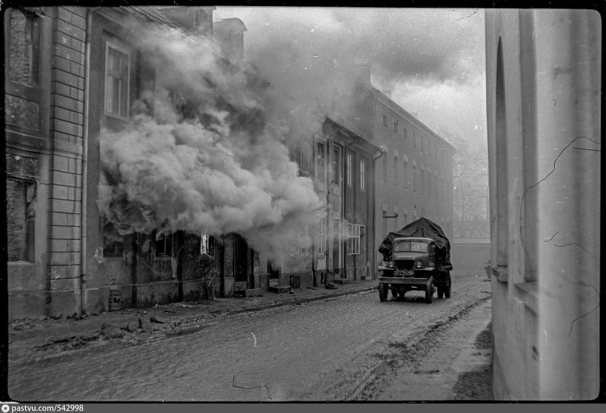
M494 398L594 399L601 18L486 10L485 19Z

